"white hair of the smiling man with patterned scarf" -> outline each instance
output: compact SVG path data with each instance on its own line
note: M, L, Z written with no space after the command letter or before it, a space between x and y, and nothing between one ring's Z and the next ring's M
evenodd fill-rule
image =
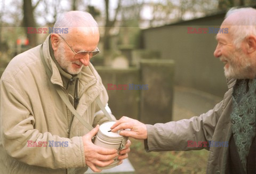
M236 15L237 14L237 15ZM232 19L231 36L233 36L233 43L236 47L240 47L242 41L249 35L256 36L256 10L251 7L230 9L225 18L236 15Z

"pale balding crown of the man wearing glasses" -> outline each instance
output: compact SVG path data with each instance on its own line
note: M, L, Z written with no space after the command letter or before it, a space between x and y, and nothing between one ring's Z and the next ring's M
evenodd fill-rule
M98 23L90 13L82 11L69 11L61 14L54 24L54 28L86 28L87 31L95 33L99 31ZM67 37L67 35L61 35Z

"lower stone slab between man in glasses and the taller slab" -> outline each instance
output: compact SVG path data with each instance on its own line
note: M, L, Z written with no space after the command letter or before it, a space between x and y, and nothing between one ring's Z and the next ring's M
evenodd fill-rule
M123 115L138 119L139 115L139 90L108 90L108 84L114 85L140 84L140 72L138 68L113 69L107 67L95 67L100 74L103 85L109 95L109 107L117 119Z

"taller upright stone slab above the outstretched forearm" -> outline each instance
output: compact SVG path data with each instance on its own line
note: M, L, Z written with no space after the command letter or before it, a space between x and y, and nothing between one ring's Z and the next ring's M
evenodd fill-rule
M141 83L148 90L141 91L141 114L143 123L172 121L174 61L142 60Z

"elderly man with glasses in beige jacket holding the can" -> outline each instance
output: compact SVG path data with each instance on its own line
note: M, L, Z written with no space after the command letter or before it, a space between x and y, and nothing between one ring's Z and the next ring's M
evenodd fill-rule
M68 34L51 34L15 56L0 80L1 173L99 172L117 156L122 163L130 151L130 141L119 153L92 143L111 113L90 63L100 53L97 22L89 13L71 11L54 28L68 28Z

